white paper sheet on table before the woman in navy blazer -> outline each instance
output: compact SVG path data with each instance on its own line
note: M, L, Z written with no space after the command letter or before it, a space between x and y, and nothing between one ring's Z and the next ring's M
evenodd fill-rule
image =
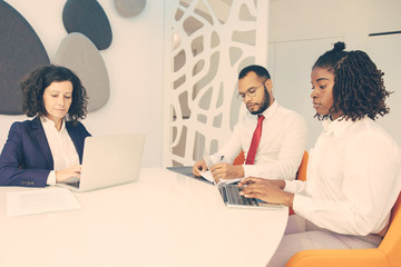
M60 210L80 209L72 192L66 188L51 187L7 194L7 215L21 216Z

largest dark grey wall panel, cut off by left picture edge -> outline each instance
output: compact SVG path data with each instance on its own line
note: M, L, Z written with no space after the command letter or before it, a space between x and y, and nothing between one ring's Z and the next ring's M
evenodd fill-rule
M0 18L0 115L21 115L19 82L33 68L49 63L49 58L32 27L4 1Z

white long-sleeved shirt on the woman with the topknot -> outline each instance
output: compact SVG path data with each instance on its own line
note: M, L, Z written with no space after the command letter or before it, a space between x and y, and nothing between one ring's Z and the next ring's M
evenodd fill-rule
M331 231L365 236L387 227L401 189L400 147L364 118L323 121L306 182L286 181L297 215Z

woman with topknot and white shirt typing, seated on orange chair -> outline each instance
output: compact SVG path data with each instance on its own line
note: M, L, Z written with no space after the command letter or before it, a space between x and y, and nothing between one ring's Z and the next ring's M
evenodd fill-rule
M242 195L292 207L268 266L297 251L375 248L401 189L401 150L375 122L389 112L383 72L363 51L338 42L312 69L313 108L323 132L310 152L306 181L250 177Z

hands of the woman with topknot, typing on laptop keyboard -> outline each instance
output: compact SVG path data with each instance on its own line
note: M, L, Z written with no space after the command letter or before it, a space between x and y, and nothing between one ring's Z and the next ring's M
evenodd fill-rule
M294 194L283 191L285 187L284 180L248 177L243 179L238 187L243 188L239 194L246 198L257 198L271 204L293 206Z

